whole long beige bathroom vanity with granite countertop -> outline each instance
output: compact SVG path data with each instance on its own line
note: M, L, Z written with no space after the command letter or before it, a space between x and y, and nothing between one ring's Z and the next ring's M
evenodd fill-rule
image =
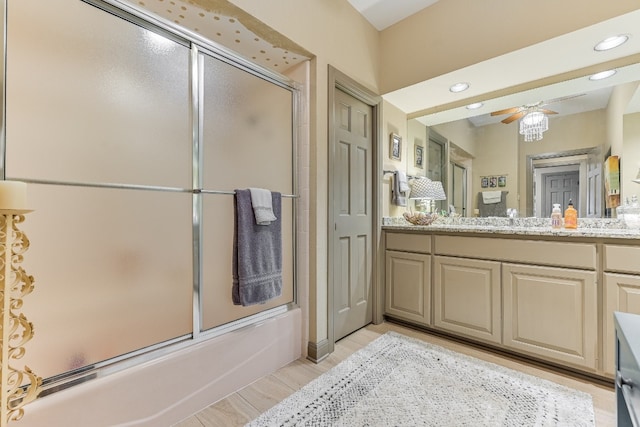
M469 222L383 231L386 317L614 377L613 313L640 314L640 231Z

